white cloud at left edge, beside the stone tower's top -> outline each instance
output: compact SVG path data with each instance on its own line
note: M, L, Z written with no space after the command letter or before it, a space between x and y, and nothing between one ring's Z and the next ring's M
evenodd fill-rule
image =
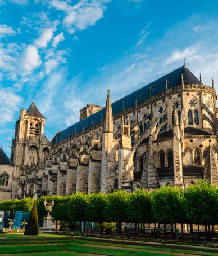
M14 121L14 114L19 111L22 98L11 88L0 87L0 125Z

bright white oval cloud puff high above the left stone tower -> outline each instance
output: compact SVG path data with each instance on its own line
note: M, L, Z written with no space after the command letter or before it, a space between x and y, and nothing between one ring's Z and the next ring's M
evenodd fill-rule
M40 56L38 54L37 47L28 45L24 52L24 58L22 59L22 66L27 74L33 72L35 68L38 68L41 64Z

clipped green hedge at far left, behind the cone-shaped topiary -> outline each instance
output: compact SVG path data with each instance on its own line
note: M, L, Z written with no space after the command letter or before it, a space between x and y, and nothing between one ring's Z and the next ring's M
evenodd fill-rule
M0 210L1 211L10 211L11 218L13 211L31 211L33 208L33 199L30 197L26 197L21 200L7 200L0 202Z

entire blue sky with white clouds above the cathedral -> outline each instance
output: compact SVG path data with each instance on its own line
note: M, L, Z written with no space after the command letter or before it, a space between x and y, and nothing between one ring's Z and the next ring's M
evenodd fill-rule
M0 144L31 101L48 139L181 65L218 84L218 2L0 0Z

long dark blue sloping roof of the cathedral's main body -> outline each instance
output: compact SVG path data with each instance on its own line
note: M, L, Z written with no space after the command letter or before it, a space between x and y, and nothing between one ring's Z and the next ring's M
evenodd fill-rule
M175 87L178 85L181 85L181 74L183 73L183 80L184 84L199 84L200 81L190 70L182 66L174 71L172 71L169 74L166 74L165 76L159 78L158 80L149 83L148 85L142 87L141 89L132 92L131 94L125 96L124 98L115 101L112 103L112 112L113 115L122 112L122 109L128 109L130 107L133 107L135 105L135 102L140 103L141 101L144 101L146 99L149 99L149 87L151 87L152 96L158 94L161 91L165 91L165 83L166 79L168 81L168 88ZM98 111L97 113L92 114L92 116L89 116L87 118L84 118L83 120L75 123L74 125L71 125L67 129L61 131L57 136L53 139L53 144L60 142L62 139L67 139L68 136L74 135L75 130L76 133L79 133L81 131L87 129L92 125L96 125L97 123L103 122L105 118L105 108L101 109L101 111ZM57 137L57 140L56 140Z

